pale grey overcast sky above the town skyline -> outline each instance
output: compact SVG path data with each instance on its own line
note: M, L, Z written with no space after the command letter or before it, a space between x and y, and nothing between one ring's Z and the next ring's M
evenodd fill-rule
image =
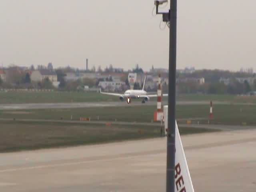
M82 69L88 58L90 68L168 68L168 27L160 29L153 7L154 0L0 0L0 64ZM178 0L177 68L256 70L255 8L255 0Z

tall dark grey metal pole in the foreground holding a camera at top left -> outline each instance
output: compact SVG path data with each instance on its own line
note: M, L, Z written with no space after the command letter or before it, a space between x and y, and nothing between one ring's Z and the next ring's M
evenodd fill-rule
M168 130L166 192L175 190L175 105L176 105L176 26L177 0L170 1L170 50L169 50L169 94L168 94Z

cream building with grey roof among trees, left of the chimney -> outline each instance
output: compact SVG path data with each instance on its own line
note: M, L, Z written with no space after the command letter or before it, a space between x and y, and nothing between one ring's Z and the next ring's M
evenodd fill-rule
M53 70L40 69L33 71L30 76L32 81L40 81L48 78L52 83L57 82L57 74Z

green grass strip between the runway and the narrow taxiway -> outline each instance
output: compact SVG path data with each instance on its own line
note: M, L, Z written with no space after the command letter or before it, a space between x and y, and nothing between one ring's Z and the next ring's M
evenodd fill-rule
M156 106L5 110L0 111L0 118L70 120L72 115L72 120L79 120L80 117L98 120L99 116L100 121L151 122L155 110ZM203 104L176 106L178 122L191 119L207 124L209 112L209 106ZM213 112L214 119L210 120L211 124L242 125L246 122L247 125L256 125L256 105L214 105Z

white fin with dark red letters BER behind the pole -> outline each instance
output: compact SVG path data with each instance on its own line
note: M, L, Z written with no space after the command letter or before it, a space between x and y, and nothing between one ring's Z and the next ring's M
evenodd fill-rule
M164 106L164 128L167 130L168 106ZM175 192L194 192L192 180L188 170L186 156L183 150L180 132L176 122L175 134Z

